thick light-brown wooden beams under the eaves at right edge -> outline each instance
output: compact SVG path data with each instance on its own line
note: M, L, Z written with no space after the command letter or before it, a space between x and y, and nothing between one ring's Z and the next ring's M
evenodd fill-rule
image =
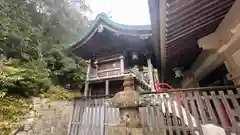
M198 40L198 43L200 43L203 48L214 51L209 56L201 54L198 56L198 59L202 58L203 60L200 61L197 59L193 63L191 67L193 79L187 80L187 78L185 78L182 80L182 84L184 83L187 86L191 84L192 81L199 81L224 62L228 62L228 59L232 57L234 51L237 51L237 48L234 48L234 46L238 46L240 41L239 5L240 1L234 3L214 33ZM231 50L231 48L233 52L227 54L227 51ZM236 66L233 68L237 69Z

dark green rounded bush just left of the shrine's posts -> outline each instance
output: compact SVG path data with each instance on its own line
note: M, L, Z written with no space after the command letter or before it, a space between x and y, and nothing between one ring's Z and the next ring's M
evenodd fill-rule
M59 47L52 49L51 52L44 56L47 68L51 71L51 78L55 84L65 86L84 82L85 67L87 66L85 61L66 56L64 52L59 51Z

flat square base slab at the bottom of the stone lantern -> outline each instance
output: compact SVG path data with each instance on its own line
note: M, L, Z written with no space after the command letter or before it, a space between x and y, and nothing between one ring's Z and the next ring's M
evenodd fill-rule
M108 135L143 135L143 128L109 127Z

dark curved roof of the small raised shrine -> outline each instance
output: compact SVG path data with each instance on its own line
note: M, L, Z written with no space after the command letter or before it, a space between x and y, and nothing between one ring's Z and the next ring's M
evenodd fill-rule
M154 66L157 65L150 25L118 24L104 13L96 17L85 36L71 46L71 51L85 60L138 52L151 55Z

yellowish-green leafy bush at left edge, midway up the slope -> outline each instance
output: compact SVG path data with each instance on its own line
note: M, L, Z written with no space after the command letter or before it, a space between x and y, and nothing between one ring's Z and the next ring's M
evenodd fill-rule
M0 63L0 89L8 95L33 96L51 86L49 71L41 63L32 61L19 65L13 60Z

